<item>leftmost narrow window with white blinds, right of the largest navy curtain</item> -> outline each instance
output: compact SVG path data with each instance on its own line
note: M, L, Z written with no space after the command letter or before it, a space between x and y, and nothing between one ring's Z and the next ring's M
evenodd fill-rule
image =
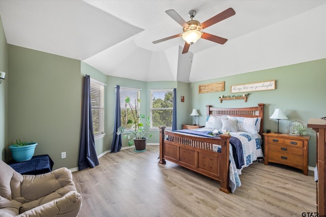
M91 79L91 104L95 139L104 134L104 84Z

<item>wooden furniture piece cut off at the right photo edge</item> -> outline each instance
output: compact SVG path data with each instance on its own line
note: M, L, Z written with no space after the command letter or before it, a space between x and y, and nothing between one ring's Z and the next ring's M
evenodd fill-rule
M316 166L318 171L317 182L317 212L319 216L326 215L326 120L321 118L310 118L308 121L308 128L316 131Z

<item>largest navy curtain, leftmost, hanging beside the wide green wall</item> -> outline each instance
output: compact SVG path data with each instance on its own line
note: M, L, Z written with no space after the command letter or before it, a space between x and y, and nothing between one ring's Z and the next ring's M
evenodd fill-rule
M90 76L85 76L82 130L80 132L78 170L99 165L93 132L91 81Z

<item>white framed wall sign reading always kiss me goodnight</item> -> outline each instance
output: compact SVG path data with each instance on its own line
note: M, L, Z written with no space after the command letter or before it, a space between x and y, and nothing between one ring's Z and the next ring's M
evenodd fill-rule
M251 91L261 91L275 89L275 80L262 81L258 83L248 83L248 84L238 84L231 85L231 93L237 92L251 92Z

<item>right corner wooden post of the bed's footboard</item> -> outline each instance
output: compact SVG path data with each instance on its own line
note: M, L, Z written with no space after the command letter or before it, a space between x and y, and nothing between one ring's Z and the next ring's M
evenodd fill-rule
M223 161L221 161L221 188L220 191L224 193L230 192L230 178L229 178L229 154L230 154L230 138L231 136L228 134L221 134L220 137L222 139L226 139L223 145L221 145L221 153L223 153ZM225 149L225 151L223 151Z

